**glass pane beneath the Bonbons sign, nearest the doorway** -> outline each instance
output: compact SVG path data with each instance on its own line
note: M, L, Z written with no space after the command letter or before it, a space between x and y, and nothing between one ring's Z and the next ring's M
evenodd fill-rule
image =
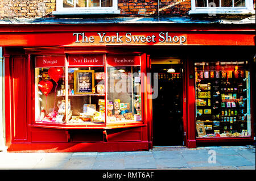
M108 68L107 123L141 121L141 68Z

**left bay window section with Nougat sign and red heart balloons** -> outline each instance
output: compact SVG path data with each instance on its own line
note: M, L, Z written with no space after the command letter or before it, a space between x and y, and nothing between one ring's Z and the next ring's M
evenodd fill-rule
M64 79L64 55L35 58L35 121L37 123L64 123L64 115L57 112L63 102L62 98L57 96L57 91L64 90Z

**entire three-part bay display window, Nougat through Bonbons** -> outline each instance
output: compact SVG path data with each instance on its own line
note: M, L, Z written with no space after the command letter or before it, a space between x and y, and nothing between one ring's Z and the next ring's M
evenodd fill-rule
M140 56L67 54L35 58L35 123L142 123L141 107Z

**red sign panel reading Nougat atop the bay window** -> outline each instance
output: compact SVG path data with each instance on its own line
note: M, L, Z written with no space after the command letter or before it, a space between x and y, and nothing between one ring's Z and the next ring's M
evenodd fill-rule
M36 68L52 68L65 66L64 55L36 56L35 60Z

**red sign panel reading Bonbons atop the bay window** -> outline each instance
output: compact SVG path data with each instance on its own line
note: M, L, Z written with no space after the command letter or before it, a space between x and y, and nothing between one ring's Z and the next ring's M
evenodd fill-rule
M107 57L108 66L140 66L140 56L111 55Z

